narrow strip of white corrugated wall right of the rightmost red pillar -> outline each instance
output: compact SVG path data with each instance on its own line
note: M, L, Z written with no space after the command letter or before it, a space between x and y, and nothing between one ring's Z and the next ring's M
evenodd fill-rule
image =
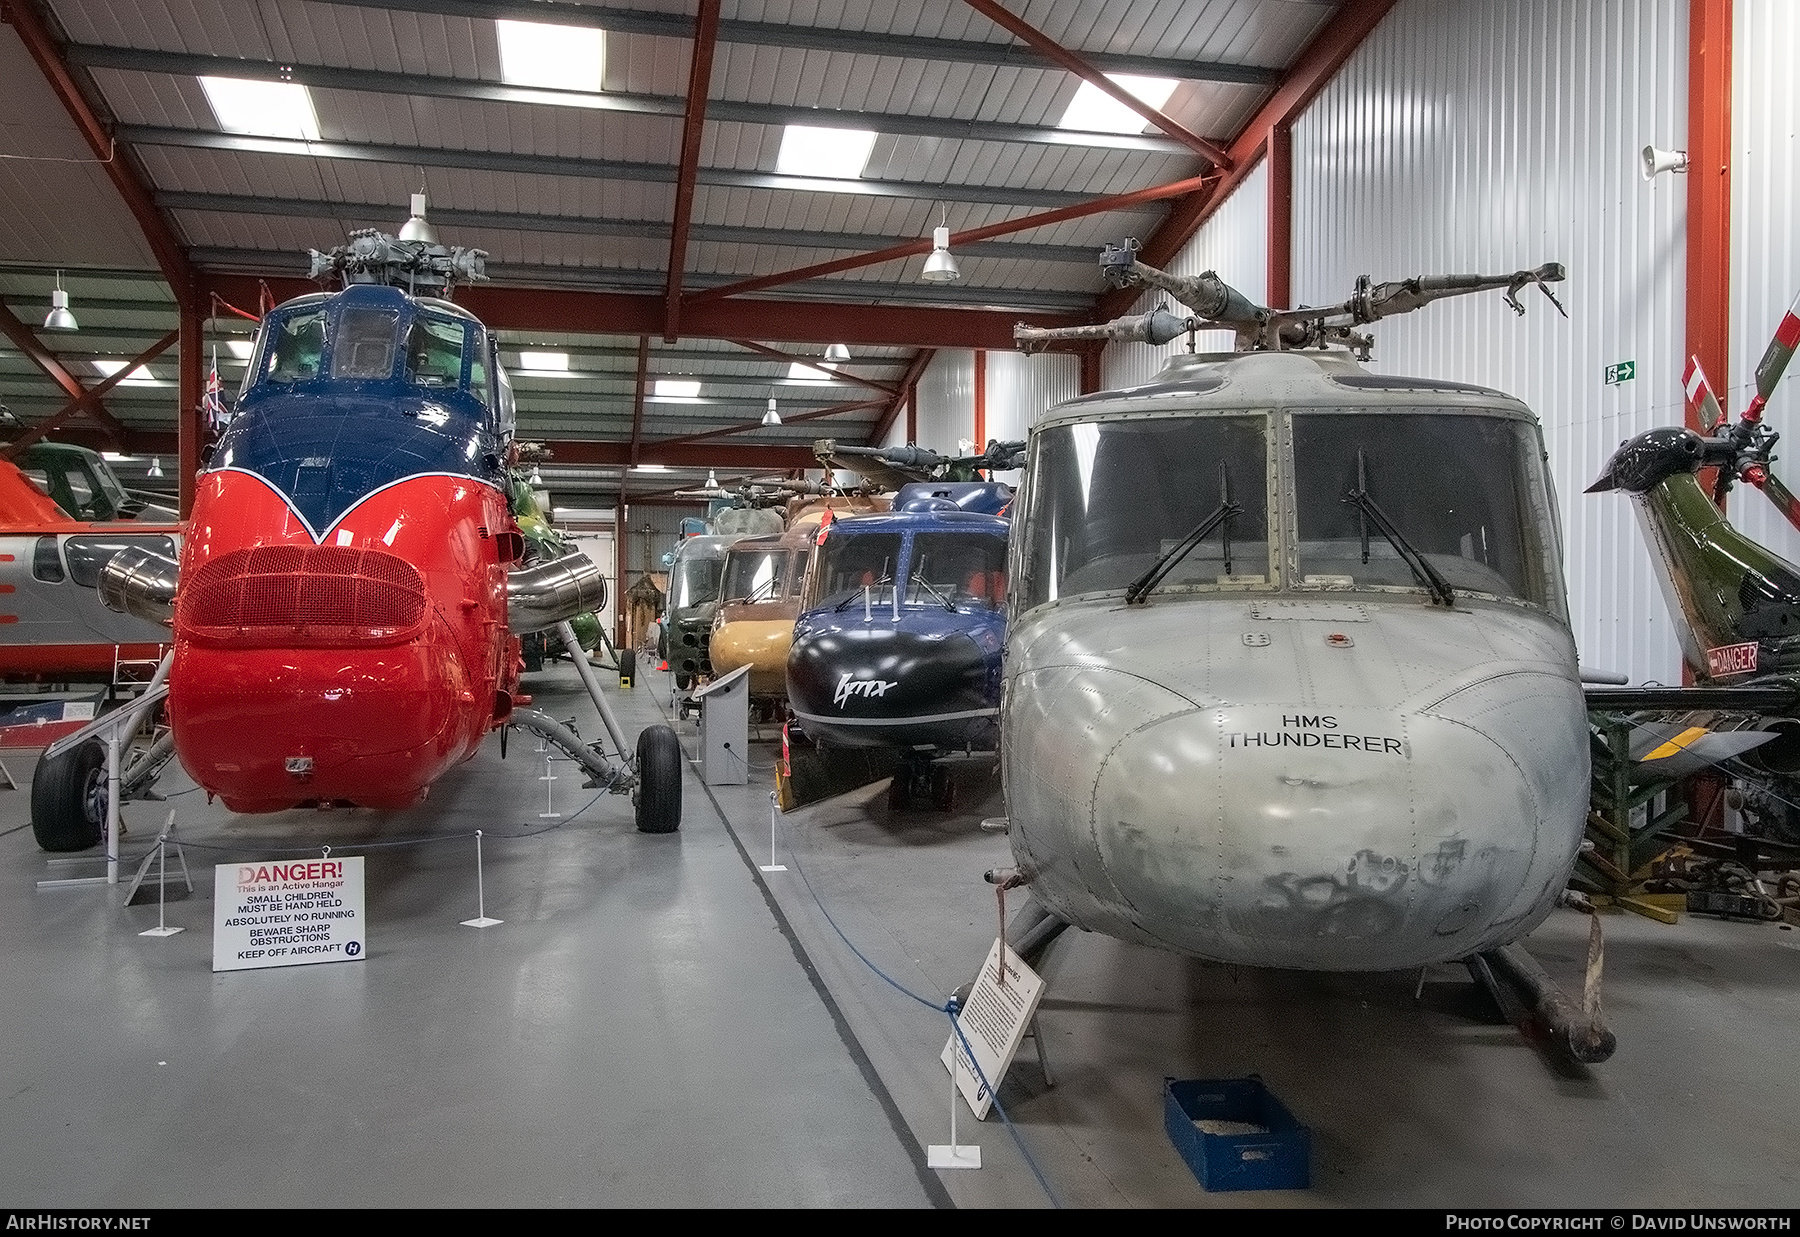
M1800 4L1793 0L1737 0L1732 32L1732 375L1730 396L1719 398L1733 418L1755 393L1757 362L1775 324L1800 290ZM1714 378L1719 382L1719 378ZM1775 466L1789 488L1800 484L1800 371L1769 400L1768 421L1786 438ZM1795 533L1753 490L1730 501L1732 522L1793 562L1800 562Z

